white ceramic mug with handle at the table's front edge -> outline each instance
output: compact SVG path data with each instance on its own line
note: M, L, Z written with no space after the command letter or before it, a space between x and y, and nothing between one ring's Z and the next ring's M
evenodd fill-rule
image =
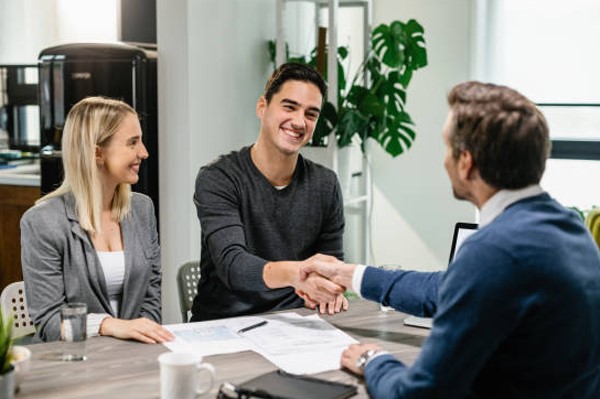
M167 352L158 356L160 363L160 398L195 399L215 384L215 368L202 363L202 356L191 353ZM206 386L200 386L200 374L208 375Z

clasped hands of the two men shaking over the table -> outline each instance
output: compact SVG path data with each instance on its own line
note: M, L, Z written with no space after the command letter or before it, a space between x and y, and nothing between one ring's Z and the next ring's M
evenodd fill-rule
M298 280L293 284L296 294L311 309L334 314L348 309L344 292L352 288L356 265L329 256L316 254L300 262Z

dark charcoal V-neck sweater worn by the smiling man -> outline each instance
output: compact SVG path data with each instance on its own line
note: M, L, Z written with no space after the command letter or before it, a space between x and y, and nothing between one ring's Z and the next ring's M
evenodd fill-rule
M303 306L293 288L265 285L264 265L315 253L343 256L337 177L302 156L282 190L256 168L250 147L221 156L198 172L194 203L202 250L193 321Z

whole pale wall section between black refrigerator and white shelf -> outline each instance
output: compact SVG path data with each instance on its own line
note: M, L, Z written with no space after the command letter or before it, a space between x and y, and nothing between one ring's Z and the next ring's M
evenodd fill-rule
M271 0L157 1L163 321L179 322L177 267L200 258L201 165L254 142L270 73Z

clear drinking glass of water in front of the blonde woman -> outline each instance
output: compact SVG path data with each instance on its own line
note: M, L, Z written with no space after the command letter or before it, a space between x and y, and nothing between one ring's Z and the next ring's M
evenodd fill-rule
M87 305L67 303L60 309L60 340L62 360L85 360L85 340L87 338Z

